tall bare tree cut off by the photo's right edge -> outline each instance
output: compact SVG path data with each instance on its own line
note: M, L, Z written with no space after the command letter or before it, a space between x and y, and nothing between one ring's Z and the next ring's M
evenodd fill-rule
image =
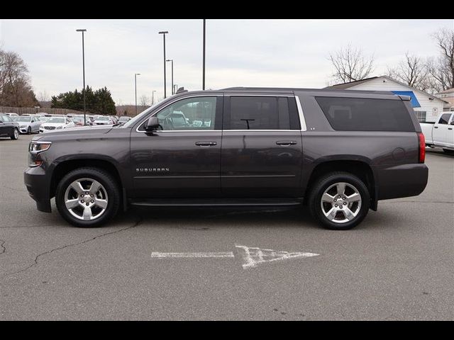
M454 30L442 28L432 36L441 55L430 58L426 67L433 78L433 90L439 92L454 87Z

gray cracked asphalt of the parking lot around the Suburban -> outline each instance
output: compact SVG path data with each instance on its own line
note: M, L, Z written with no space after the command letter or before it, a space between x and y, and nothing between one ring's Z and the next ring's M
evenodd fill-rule
M454 157L441 151L420 196L345 232L300 209L134 208L79 229L28 197L29 140L0 139L1 320L454 319ZM318 255L242 266L252 247ZM152 256L165 252L225 256Z

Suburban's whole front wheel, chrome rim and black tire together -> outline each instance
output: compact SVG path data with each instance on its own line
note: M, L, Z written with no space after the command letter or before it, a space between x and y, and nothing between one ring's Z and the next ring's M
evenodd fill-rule
M120 192L115 179L97 168L80 168L58 183L55 203L60 215L76 227L98 227L116 215Z

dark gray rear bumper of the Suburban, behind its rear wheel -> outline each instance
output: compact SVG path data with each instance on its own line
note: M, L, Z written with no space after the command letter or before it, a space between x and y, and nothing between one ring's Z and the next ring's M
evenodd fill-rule
M376 166L377 200L389 200L418 196L428 181L426 164L403 164L398 166Z

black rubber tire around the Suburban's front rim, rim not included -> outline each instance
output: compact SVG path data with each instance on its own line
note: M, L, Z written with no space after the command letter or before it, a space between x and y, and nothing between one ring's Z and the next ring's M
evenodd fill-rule
M106 195L108 197L107 207L102 215L94 220L79 220L79 218L74 217L66 208L65 193L67 188L73 181L78 179L94 179L95 181L101 183L106 191ZM120 207L120 202L120 190L114 177L102 169L93 167L79 168L71 171L62 178L55 191L55 204L57 205L58 212L60 212L60 215L67 222L70 222L70 224L75 227L99 227L100 225L103 225L116 215L118 208Z

